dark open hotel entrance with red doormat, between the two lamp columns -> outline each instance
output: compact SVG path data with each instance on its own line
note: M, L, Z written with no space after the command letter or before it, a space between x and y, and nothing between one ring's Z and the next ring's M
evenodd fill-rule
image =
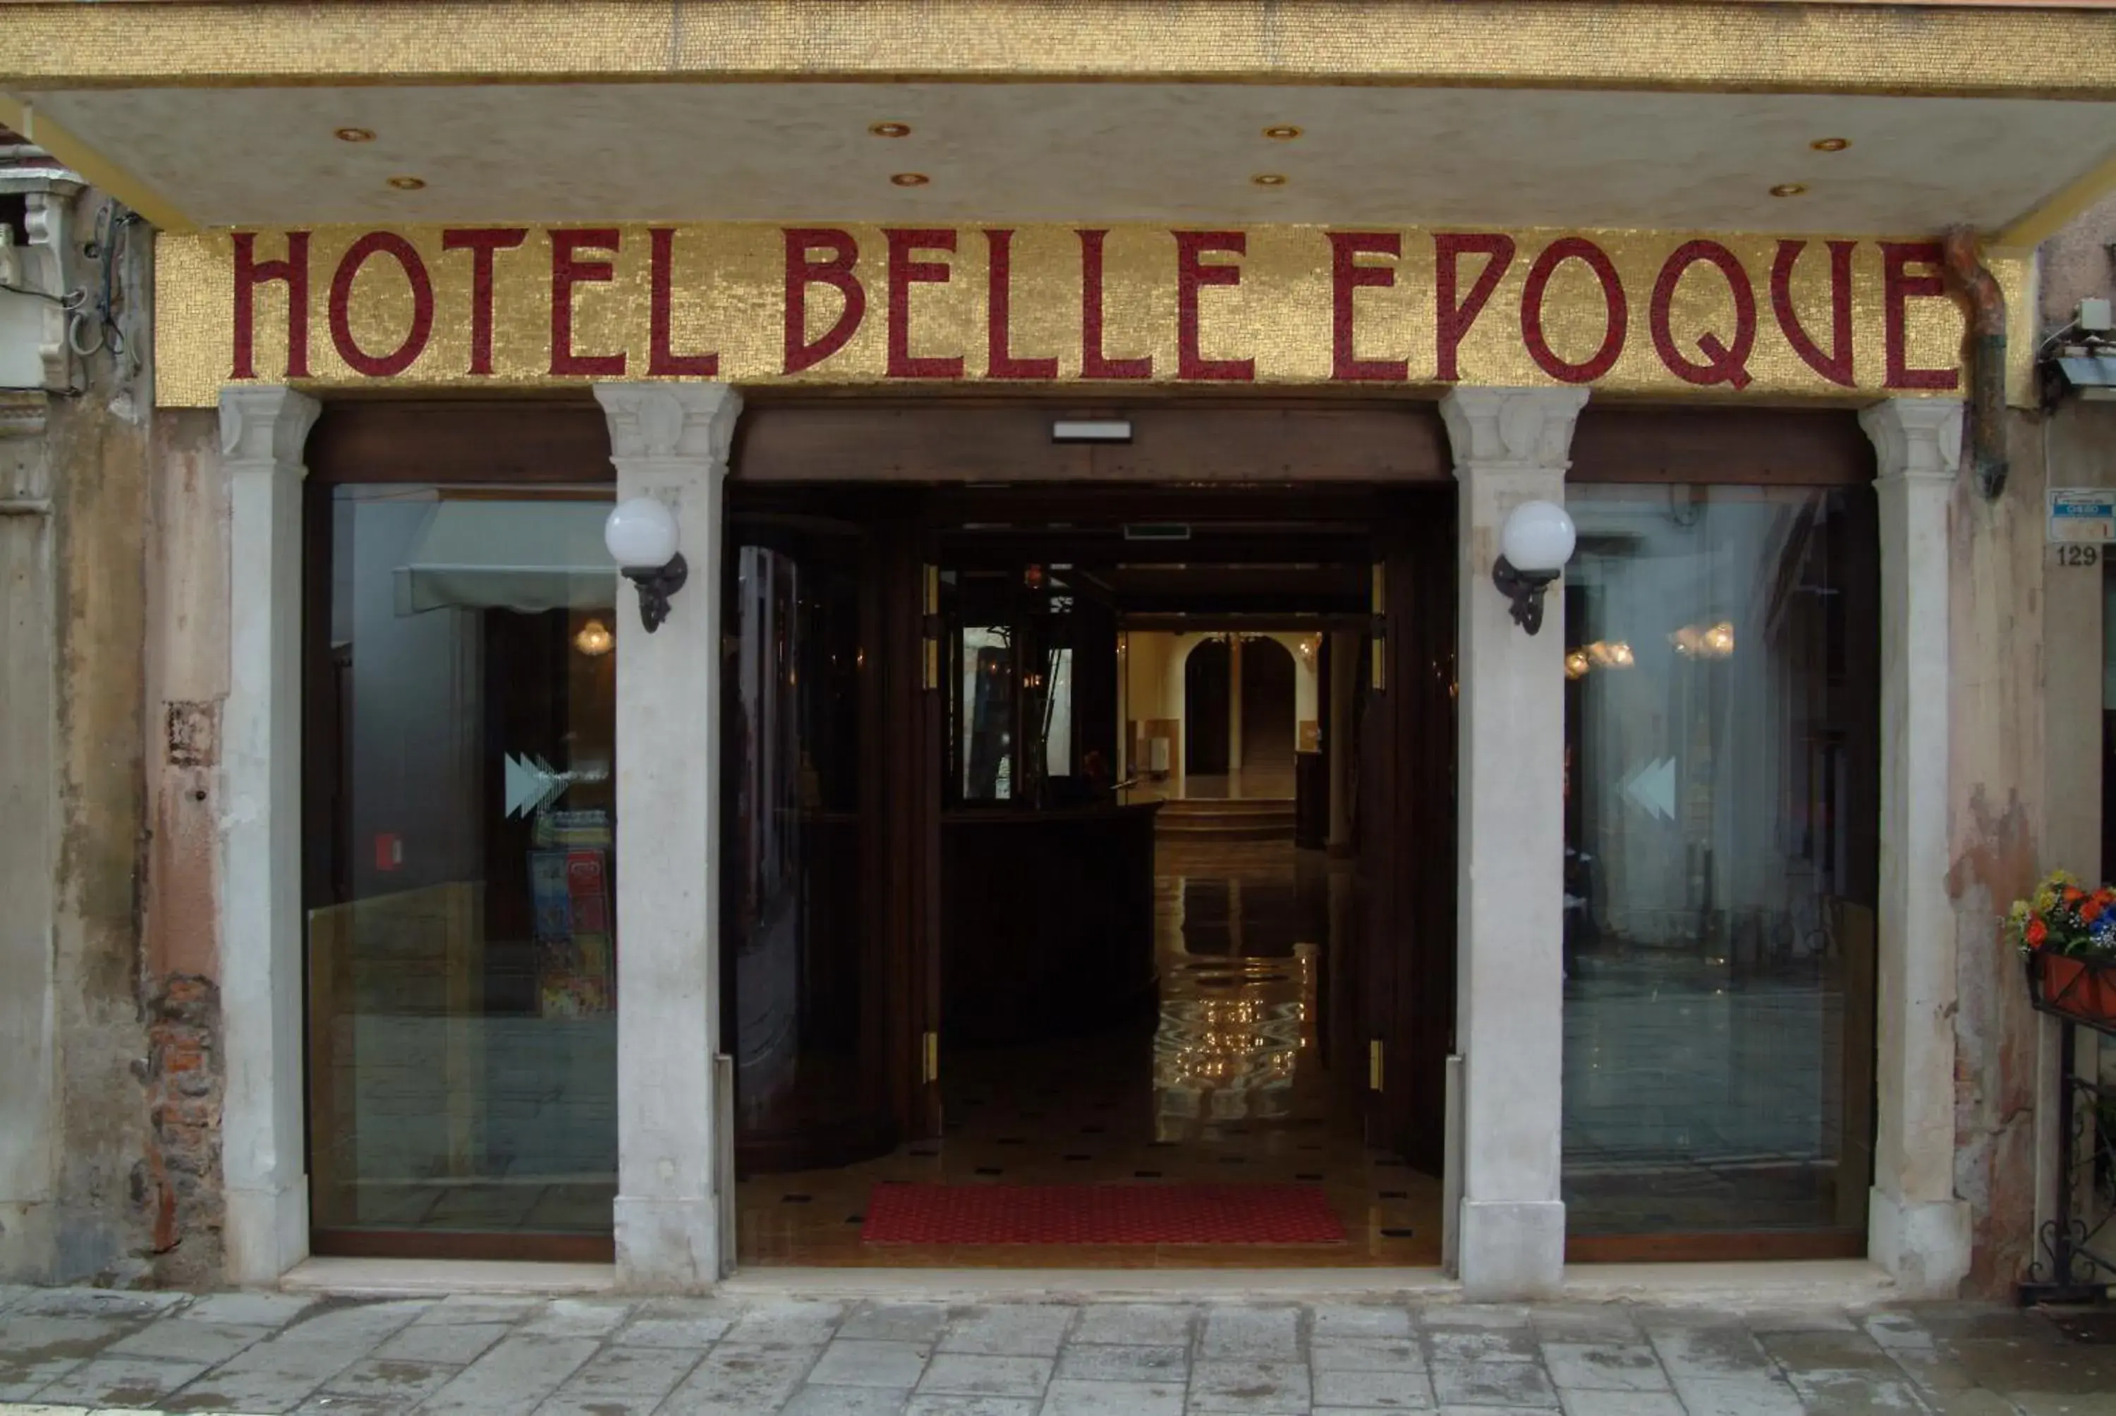
M1452 489L728 527L738 1264L1439 1264Z

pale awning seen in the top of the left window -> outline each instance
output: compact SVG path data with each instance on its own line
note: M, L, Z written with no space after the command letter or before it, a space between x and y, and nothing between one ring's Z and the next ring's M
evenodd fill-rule
M607 514L603 502L436 502L396 571L396 610L609 610Z

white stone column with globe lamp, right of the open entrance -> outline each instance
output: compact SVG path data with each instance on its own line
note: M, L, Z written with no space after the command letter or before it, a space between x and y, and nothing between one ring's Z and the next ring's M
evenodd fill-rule
M1564 1285L1564 582L1543 633L1528 635L1492 563L1515 506L1564 502L1585 402L1581 387L1458 387L1441 400L1460 483L1458 1255L1471 1300Z

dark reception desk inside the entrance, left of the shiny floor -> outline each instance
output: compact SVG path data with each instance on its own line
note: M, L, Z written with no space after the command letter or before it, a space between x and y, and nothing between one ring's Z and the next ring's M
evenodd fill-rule
M1160 800L942 815L942 1031L992 1046L1092 1033L1153 1001Z

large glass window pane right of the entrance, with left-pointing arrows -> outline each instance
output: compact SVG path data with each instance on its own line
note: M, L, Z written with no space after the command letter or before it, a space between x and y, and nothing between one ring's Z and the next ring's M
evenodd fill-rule
M1568 506L1568 1228L1858 1253L1873 491L1587 485Z

